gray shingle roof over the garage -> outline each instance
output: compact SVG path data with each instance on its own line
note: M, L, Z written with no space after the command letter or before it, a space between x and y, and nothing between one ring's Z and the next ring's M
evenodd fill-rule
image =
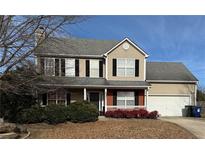
M147 62L147 80L198 81L183 63Z

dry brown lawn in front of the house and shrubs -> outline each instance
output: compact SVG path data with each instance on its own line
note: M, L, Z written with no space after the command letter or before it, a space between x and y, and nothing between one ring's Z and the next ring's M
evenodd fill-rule
M104 120L90 123L58 125L27 125L31 135L38 139L187 139L196 138L187 130L161 120Z

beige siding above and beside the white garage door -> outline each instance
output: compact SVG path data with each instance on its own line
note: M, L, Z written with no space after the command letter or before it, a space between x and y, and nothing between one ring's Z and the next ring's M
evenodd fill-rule
M195 101L195 84L182 84L182 83L151 83L149 95L162 94L162 95L190 95L191 103Z

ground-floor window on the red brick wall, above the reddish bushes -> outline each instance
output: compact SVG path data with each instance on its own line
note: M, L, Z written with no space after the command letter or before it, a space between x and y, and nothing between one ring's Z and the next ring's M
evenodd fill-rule
M127 106L135 106L134 92L117 92L117 106L125 108Z

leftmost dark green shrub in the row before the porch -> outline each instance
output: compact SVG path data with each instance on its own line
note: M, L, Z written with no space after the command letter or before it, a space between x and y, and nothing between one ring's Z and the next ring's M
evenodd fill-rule
M29 109L21 110L17 116L15 122L17 123L39 123L45 120L44 109L40 106L32 106Z

